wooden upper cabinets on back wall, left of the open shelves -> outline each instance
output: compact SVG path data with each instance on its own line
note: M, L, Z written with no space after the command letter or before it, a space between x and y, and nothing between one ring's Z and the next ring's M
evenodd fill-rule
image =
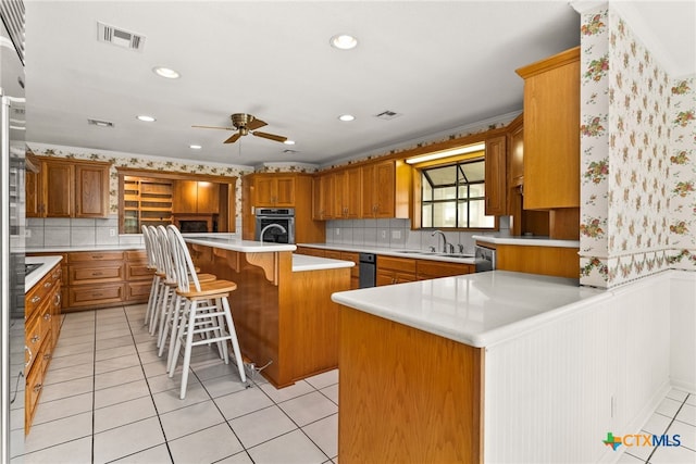
M27 217L107 217L111 163L33 156L26 173Z

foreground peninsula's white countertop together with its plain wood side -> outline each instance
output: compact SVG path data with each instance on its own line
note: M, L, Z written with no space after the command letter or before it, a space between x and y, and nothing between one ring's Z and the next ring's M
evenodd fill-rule
M601 298L577 279L504 271L335 293L339 461L484 462L502 439L484 443L496 388L484 377L500 361L488 350Z

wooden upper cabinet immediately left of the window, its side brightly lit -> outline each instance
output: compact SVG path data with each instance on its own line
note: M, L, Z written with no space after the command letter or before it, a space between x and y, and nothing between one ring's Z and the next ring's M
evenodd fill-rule
M409 217L411 168L402 161L387 160L361 167L361 217Z

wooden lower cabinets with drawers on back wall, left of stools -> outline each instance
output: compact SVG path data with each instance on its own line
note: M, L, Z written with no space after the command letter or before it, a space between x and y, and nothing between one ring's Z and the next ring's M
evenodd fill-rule
M29 253L28 255L55 255ZM152 271L145 250L76 251L63 254L63 312L148 301Z

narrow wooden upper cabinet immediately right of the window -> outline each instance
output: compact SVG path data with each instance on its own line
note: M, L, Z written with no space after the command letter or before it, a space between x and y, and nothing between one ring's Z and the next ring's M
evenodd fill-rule
M508 213L506 135L486 139L486 215Z

